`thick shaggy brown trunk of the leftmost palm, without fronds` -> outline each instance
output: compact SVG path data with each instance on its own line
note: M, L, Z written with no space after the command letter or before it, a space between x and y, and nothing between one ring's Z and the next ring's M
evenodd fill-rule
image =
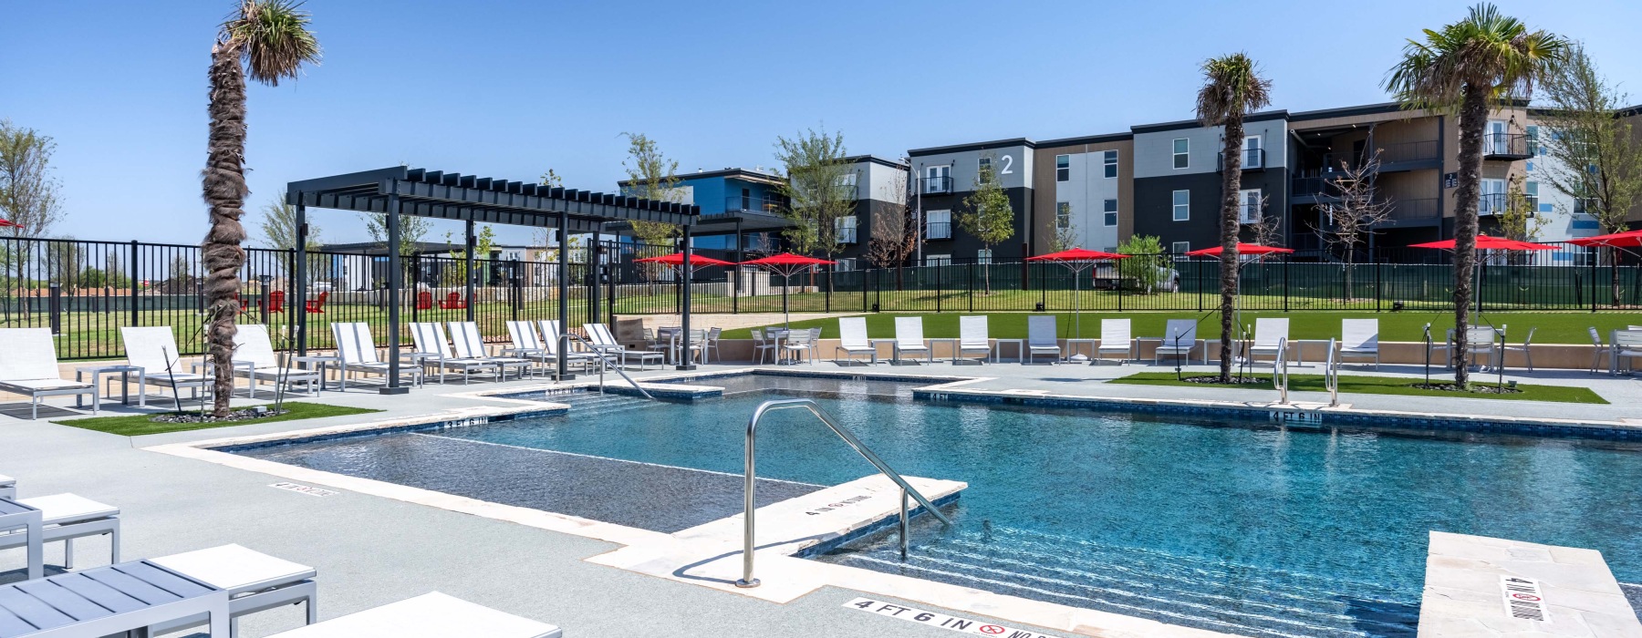
M205 340L207 356L215 366L213 407L217 417L228 415L233 395L233 336L238 331L240 267L245 266L245 69L240 51L217 44L210 64L210 138L207 141L202 185L210 207L210 231L200 244L205 266Z

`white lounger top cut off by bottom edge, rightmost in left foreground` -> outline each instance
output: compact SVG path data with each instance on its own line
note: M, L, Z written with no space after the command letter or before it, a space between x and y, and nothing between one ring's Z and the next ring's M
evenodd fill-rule
M391 602L269 638L562 638L558 627L521 618L440 592Z

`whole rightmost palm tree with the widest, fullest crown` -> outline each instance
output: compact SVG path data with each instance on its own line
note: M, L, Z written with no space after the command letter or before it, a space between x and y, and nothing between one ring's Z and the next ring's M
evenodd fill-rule
M1489 3L1442 30L1425 30L1425 39L1409 39L1402 61L1386 74L1386 90L1404 108L1458 112L1460 184L1453 198L1453 381L1470 382L1466 328L1470 326L1471 272L1476 267L1476 203L1483 184L1483 131L1488 107L1507 98L1529 98L1534 84L1550 75L1566 57L1568 41L1545 31L1529 31L1517 18Z

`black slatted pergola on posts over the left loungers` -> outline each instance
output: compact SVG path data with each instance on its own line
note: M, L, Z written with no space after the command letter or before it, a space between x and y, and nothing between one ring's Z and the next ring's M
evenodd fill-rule
M466 223L466 289L473 298L475 289L475 223L509 226L553 228L558 238L558 318L570 317L570 251L568 233L601 233L611 223L660 221L683 228L685 269L690 267L690 231L701 213L698 207L645 200L637 197L598 194L589 190L547 187L506 179L463 175L456 172L412 169L396 166L388 169L350 172L343 175L307 179L286 185L286 203L296 207L297 216L297 267L294 272L296 307L307 297L307 208L335 208L360 213L381 213L388 218L388 387L383 394L401 394L399 385L399 290L402 287L399 246L399 216L414 215ZM594 236L596 239L596 236ZM598 241L594 241L594 246ZM598 277L593 279L594 287ZM596 295L596 290L594 290ZM468 303L468 320L473 320L475 303ZM307 313L297 315L297 344L307 354ZM566 372L568 325L560 326L558 377ZM685 353L690 351L690 287L683 298ZM693 369L681 361L680 369Z

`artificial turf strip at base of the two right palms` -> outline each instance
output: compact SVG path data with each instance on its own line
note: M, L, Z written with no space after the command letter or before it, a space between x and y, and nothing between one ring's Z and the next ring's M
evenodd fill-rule
M1202 376L1204 372L1189 372L1190 376ZM1108 384L1133 384L1133 385L1179 385L1179 387L1240 387L1250 390L1268 390L1276 392L1271 385L1271 374L1251 374L1251 377L1261 379L1259 384L1243 384L1243 385L1222 385L1222 384L1194 384L1189 381L1179 381L1174 372L1140 372L1130 374L1126 377L1112 379ZM1450 382L1452 379L1432 379L1433 384ZM1573 385L1527 385L1517 384L1519 394L1483 394L1483 392L1443 392L1443 390L1422 390L1414 387L1414 384L1424 384L1425 379L1412 377L1369 377L1356 374L1340 376L1340 394L1394 394L1409 397L1447 397L1447 399L1504 399L1504 400L1543 400L1557 403L1608 403L1603 397L1591 392L1588 387ZM1471 385L1491 385L1484 382L1473 382ZM1292 374L1289 376L1289 390L1294 392L1328 392L1323 384L1322 374Z

